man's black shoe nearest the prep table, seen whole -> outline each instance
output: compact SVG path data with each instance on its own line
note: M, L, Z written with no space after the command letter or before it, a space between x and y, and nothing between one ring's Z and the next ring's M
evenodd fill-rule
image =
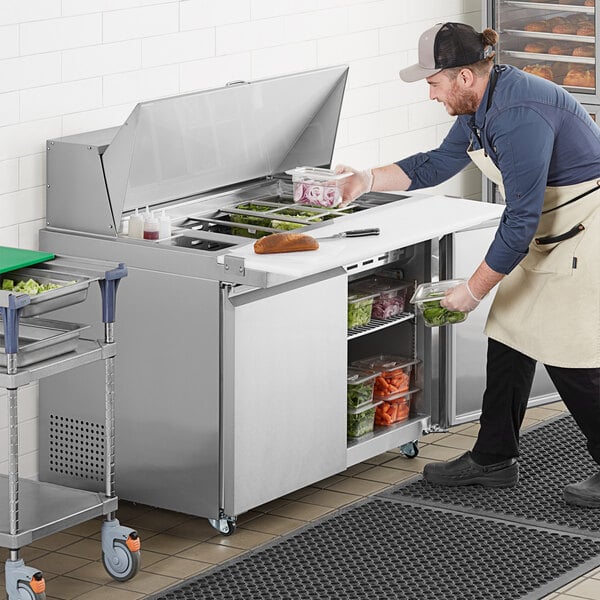
M519 481L519 464L509 458L493 465L478 465L470 452L448 462L428 463L423 478L439 485L482 485L483 487L512 487Z

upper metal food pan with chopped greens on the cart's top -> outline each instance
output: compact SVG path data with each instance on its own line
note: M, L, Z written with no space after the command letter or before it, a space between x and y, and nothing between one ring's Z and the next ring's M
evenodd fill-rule
M61 286L55 290L30 296L30 303L24 306L19 313L21 317L32 317L63 308L64 306L83 302L87 298L88 288L92 281L90 277L86 277L85 275L34 268L2 273L0 275L0 289L5 279L12 279L15 284L19 281L33 279L40 284L54 283Z

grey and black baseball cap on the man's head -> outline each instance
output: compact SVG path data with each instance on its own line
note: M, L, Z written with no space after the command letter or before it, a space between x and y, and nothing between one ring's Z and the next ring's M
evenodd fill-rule
M419 38L419 62L400 71L411 82L435 75L442 69L472 65L492 55L481 33L465 23L438 23Z

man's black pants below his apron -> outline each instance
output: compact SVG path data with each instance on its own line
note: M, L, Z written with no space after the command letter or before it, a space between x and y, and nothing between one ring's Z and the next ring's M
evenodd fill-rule
M481 464L519 455L519 429L527 409L536 361L489 339L487 386L481 429L473 458ZM544 365L563 402L587 438L600 464L600 369L566 369Z

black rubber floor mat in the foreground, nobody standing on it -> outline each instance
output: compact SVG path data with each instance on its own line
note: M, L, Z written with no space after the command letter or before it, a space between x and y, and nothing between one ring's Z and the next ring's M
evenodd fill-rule
M600 540L369 499L153 600L538 600Z

